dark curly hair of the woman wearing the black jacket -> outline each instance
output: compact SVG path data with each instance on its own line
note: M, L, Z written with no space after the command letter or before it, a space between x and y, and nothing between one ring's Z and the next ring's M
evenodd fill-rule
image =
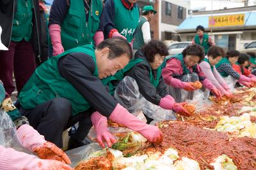
M141 50L147 58L148 62L154 62L155 55L157 53L161 56L166 56L169 54L167 46L163 42L157 40L149 41L141 48Z

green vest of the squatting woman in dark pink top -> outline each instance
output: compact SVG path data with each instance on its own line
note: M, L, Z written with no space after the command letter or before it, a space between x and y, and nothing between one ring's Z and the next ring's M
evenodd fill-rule
M184 59L183 59L184 57L183 57L182 53L179 53L179 54L176 54L176 55L170 55L168 57L165 57L164 62L162 64L162 68L164 68L166 66L166 62L168 60L173 59L173 58L178 59L181 62L182 69L183 69L183 74L182 75L191 73L191 71L185 65L185 62L184 62ZM193 72L196 71L196 66L197 66L197 64L192 67L193 68ZM175 75L175 76L182 76L182 75Z

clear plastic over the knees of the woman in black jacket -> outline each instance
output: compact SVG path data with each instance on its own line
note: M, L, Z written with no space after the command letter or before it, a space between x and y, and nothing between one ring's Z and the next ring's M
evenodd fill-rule
M136 81L129 76L125 76L118 84L114 96L116 101L129 110L130 113L143 111L147 117L154 120L176 120L173 111L164 110L156 104L147 101L140 94Z

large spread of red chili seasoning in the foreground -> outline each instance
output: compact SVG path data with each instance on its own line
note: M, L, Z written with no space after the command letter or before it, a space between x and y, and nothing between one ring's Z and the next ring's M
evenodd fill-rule
M232 139L223 132L201 129L187 122L169 122L161 131L163 143L154 145L154 150L172 147L180 157L197 160L201 169L214 169L210 164L222 154L230 157L238 169L256 169L256 139Z

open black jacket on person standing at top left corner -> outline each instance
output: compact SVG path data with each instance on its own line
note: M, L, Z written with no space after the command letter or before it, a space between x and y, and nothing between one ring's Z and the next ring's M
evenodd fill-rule
M33 31L31 35L31 44L35 52L36 64L41 64L41 26L40 26L40 9L38 0L33 2ZM0 0L0 25L3 29L1 35L2 43L8 47L12 36L12 23L15 11L17 10L17 0Z

